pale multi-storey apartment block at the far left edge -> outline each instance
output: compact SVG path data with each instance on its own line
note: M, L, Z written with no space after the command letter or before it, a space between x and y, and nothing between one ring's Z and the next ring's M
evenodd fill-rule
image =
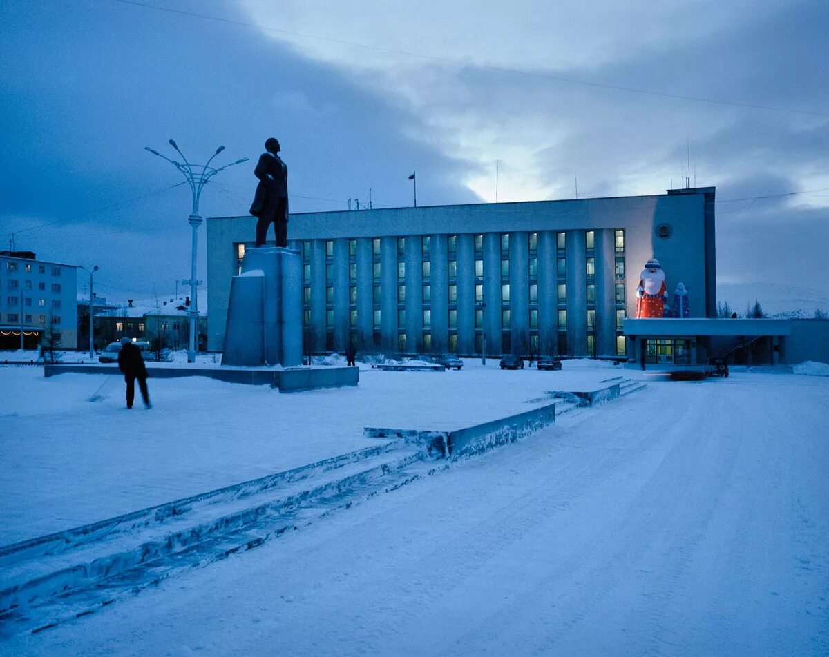
M77 267L0 252L0 349L78 346ZM31 257L29 257L31 256Z

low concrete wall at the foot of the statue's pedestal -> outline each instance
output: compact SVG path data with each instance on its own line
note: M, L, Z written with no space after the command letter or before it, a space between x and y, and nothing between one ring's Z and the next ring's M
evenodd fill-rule
M315 388L338 388L360 383L357 367L301 367L287 370L245 369L235 367L153 367L148 364L150 379L176 379L183 376L206 376L230 384L269 385L284 392ZM58 374L118 374L117 365L45 365L46 377Z

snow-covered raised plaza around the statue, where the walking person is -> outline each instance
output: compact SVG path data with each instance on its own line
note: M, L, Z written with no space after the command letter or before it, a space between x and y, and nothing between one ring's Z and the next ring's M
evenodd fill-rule
M0 545L376 445L365 427L470 426L550 403L527 401L565 382L591 388L618 374L609 364L609 374L565 367L502 372L497 360L485 368L468 360L460 372L367 369L356 388L291 394L151 378L149 411L138 391L125 408L119 374L44 379L40 367L0 367ZM90 403L102 385L104 399Z

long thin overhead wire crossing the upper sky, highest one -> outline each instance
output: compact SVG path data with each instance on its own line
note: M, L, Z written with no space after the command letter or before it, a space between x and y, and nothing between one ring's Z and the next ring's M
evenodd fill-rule
M329 36L317 36L313 34L303 34L302 32L295 32L289 30L280 30L277 27L267 27L262 25L257 25L256 23L250 23L245 21L236 21L230 18L221 18L217 16L208 16L207 14L201 14L198 12L186 12L182 9L172 9L170 7L158 7L156 5L151 5L146 2L137 2L137 0L115 0L115 2L121 2L122 4L129 4L134 5L136 7L146 7L148 9L155 9L159 12L169 12L174 14L179 14L182 16L193 17L193 18L202 18L206 21L214 21L214 22L221 22L226 23L228 25L235 25L240 27L251 27L257 30L264 30L269 32L274 32L276 34L284 34L288 36L297 36L303 39L313 39L316 41L325 41L327 43L336 43L341 46L354 46L356 48L364 48L366 50L377 51L377 52L385 52L390 55L403 55L408 57L414 57L417 59L422 60L430 60L430 61L437 61L442 64L452 64L458 65L462 67L468 68L475 68L479 70L489 70L496 73L509 73L511 75L525 75L526 77L533 77L533 78L541 78L542 80L552 80L554 82L563 82L568 85L583 85L588 87L595 87L598 89L610 89L613 91L624 91L628 94L646 94L651 96L659 96L662 98L671 98L676 100L691 100L695 103L708 103L708 104L716 104L716 105L728 105L730 107L741 107L746 109L763 109L770 112L786 112L788 114L807 114L808 116L820 116L820 117L827 117L829 118L829 114L826 112L812 112L806 109L790 109L784 107L774 107L773 105L760 105L754 103L739 103L733 100L720 100L720 99L710 99L710 98L701 98L699 96L687 96L684 94L670 94L664 91L653 91L652 89L638 89L636 87L625 87L622 85L608 85L602 82L588 82L586 80L574 80L573 78L563 78L559 75L550 75L548 73L539 73L537 71L531 70L521 70L521 69L514 69L508 68L507 66L494 66L494 65L486 65L486 64L474 64L468 61L462 60L455 60L450 57L438 57L432 55L424 55L418 52L410 52L410 51L400 51L395 50L394 48L384 48L382 46L369 46L365 43L357 43L356 41L345 41L343 39L334 39Z

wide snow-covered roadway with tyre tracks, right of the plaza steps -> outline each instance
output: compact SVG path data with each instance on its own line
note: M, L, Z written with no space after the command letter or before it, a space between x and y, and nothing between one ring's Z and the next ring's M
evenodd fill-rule
M823 377L652 380L0 653L827 655L827 425Z

